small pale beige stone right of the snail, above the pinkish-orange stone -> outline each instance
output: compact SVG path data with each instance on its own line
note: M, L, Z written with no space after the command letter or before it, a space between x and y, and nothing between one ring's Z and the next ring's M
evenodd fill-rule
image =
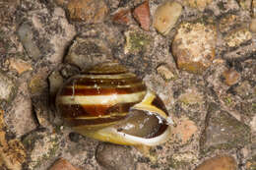
M179 96L179 100L185 104L202 104L204 96L195 87L188 88L185 93Z

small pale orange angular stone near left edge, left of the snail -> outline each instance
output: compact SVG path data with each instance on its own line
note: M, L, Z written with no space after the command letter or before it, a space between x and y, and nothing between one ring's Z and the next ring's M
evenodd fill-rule
M26 71L32 71L32 64L21 59L10 59L10 69L16 70L19 75Z

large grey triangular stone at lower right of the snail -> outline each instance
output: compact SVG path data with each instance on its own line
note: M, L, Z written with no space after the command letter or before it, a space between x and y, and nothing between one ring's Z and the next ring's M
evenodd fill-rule
M230 114L210 103L203 134L201 148L205 151L213 149L230 149L243 146L250 142L250 128L237 121Z

